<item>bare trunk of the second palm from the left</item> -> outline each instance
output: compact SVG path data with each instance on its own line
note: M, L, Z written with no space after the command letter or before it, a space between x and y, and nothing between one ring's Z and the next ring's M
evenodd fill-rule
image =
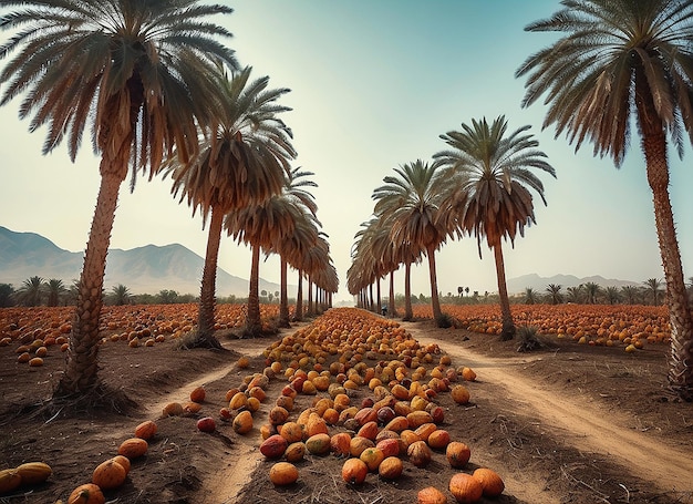
M211 207L209 232L207 234L207 251L205 253L205 267L203 268L203 282L199 294L199 309L197 313L197 337L194 347L221 349L219 340L214 336L217 260L219 257L219 244L221 241L221 227L224 213L218 207Z

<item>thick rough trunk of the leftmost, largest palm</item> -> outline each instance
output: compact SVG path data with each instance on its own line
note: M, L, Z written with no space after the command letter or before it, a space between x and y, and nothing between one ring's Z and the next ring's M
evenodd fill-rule
M102 161L103 163L103 161ZM101 176L96 209L92 219L84 265L80 276L76 309L63 374L53 391L54 398L83 393L99 383L99 317L103 305L103 279L106 255L115 220L123 178L104 171Z

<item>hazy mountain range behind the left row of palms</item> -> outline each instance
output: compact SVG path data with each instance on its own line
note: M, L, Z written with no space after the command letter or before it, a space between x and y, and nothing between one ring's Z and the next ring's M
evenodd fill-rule
M0 226L0 284L18 288L32 276L56 278L69 286L80 277L83 253L72 253L58 247L35 233L15 233ZM108 250L106 258L106 291L123 284L133 294L157 294L176 290L179 294L199 294L205 259L179 244ZM248 268L250 265L248 265ZM249 282L217 268L217 295L248 296ZM279 284L260 278L260 291L276 292ZM289 286L289 296L296 287Z

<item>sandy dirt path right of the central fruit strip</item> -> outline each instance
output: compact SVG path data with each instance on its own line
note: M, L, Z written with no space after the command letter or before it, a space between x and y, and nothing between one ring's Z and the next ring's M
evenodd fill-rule
M621 426L633 424L625 414L612 410L607 413L598 404L586 403L583 398L566 397L565 392L558 393L550 390L550 385L524 377L521 367L540 357L510 361L488 358L468 349L442 343L426 336L416 325L403 322L402 326L421 343L438 343L453 359L475 369L479 381L504 389L500 397L510 400L508 415L526 416L532 425L549 432L565 444L582 452L604 455L622 465L625 473L649 481L662 491L693 490L690 453L669 446L644 432ZM527 491L534 494L537 488L528 488L527 485L527 480L523 480L508 481L506 486L509 494L519 498L544 502L537 501L536 494L535 498L528 498ZM535 486L542 486L541 482ZM542 497L546 498L546 495Z

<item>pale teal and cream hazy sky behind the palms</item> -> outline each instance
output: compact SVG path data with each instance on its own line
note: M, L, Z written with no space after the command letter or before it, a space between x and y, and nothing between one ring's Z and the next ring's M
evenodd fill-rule
M313 172L319 185L312 193L340 277L338 300L350 298L351 246L361 224L371 218L371 195L383 177L404 163L431 161L446 148L438 135L458 131L472 119L490 122L498 115L506 116L509 131L531 125L557 172L557 179L538 172L548 206L535 197L537 225L517 238L515 248L506 245L508 278L530 272L663 278L639 138L633 137L617 169L610 160L593 157L591 144L576 154L565 137L554 138L552 128L542 132L541 104L520 107L525 81L516 80L515 71L554 39L524 28L550 17L558 1L225 3L235 9L221 22L234 33L229 45L240 63L251 65L256 78L269 75L271 88L291 89L281 101L293 109L285 120L294 134L296 166ZM0 225L83 250L96 202L99 158L86 142L74 164L62 147L42 156L44 132L30 134L18 107L15 100L0 109ZM683 162L673 152L670 157L671 198L687 278L692 274L685 268L693 267L693 157L690 148ZM111 247L172 243L204 257L207 230L199 215L192 217L190 208L172 197L168 179L139 179L133 194L124 184ZM479 259L474 238L444 245L437 254L439 290L456 292L465 286L496 291L493 255L485 245L482 250ZM224 237L219 266L248 278L248 249ZM278 261L262 263L260 275L278 281ZM426 263L415 268L412 280L413 294L430 294ZM402 292L402 272L395 282Z

